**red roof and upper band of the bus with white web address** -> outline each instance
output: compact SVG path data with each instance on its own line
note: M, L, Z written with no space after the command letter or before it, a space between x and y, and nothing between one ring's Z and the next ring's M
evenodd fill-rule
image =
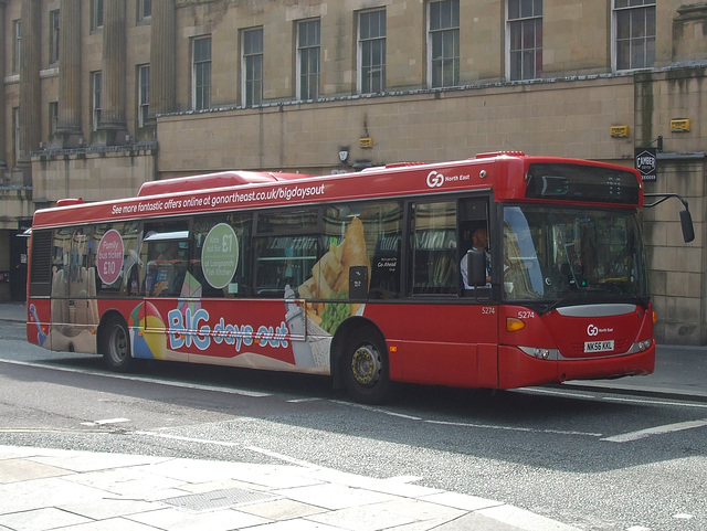
M431 163L403 162L369 168L361 172L312 176L266 171L222 171L202 176L146 182L134 198L101 202L63 200L64 206L38 210L32 226L50 227L126 221L140 217L175 216L253 208L287 206L320 202L352 201L422 194L460 193L465 190L494 190L496 200L527 200L530 164L573 164L633 173L633 185L641 189L636 170L578 159L527 157L523 152L481 153L473 159ZM553 177L555 179L555 177ZM631 181L633 178L626 179ZM597 187L602 187L597 182ZM608 183L613 184L613 181ZM592 184L593 185L593 184ZM562 198L545 198L549 201ZM594 200L597 202L597 200ZM611 200L608 203L616 203Z

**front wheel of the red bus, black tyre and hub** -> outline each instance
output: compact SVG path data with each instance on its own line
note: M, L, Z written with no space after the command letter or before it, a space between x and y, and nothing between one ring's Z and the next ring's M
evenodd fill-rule
M381 404L390 391L386 341L373 330L349 336L341 358L344 385L349 395L363 404Z

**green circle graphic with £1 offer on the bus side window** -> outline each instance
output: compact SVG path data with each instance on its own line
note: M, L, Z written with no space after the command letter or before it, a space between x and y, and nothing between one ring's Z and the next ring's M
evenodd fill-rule
M214 288L225 287L239 266L239 238L226 223L214 225L201 247L203 277Z

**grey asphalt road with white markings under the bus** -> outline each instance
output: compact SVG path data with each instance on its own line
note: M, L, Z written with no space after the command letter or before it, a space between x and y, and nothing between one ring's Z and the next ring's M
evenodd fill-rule
M707 404L563 389L398 389L187 364L112 374L0 321L0 444L306 461L500 500L584 530L707 529Z

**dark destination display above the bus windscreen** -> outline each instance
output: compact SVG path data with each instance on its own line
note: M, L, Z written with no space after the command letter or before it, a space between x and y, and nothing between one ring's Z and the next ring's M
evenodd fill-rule
M639 180L635 173L614 168L530 164L526 198L639 204Z

